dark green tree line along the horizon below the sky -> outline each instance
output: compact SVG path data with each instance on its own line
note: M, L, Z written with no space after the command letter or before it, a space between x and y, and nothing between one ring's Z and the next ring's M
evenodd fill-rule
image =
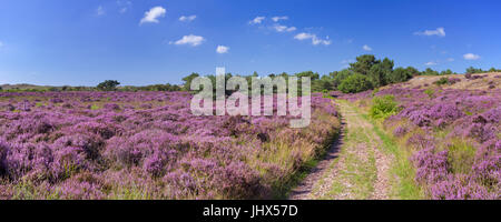
M466 69L466 74L485 73L485 72L501 72L500 69L491 68L490 70L482 70L470 67ZM350 63L350 67L341 71L334 71L325 75L321 75L317 72L305 71L294 74L283 72L281 74L268 74L271 78L283 77L288 81L289 77L297 77L299 80L302 77L310 77L312 80L313 92L328 92L328 91L342 91L344 93L362 92L387 84L405 82L416 75L445 75L458 74L450 69L438 72L431 68L424 71L419 71L413 67L394 68L394 61L384 58L376 59L373 54L363 54L356 58L356 61ZM257 72L252 75L239 75L246 78L248 85L252 85L250 79L253 77L259 77ZM120 82L117 80L106 80L99 83L97 87L52 87L52 88L38 88L38 89L9 89L0 91L190 91L190 83L197 77L202 77L199 73L191 73L183 78L184 84L151 84L145 87L119 87ZM213 81L213 85L216 85L216 77L214 74L206 75ZM225 75L226 80L234 77L232 73ZM299 81L301 85L301 81ZM301 89L299 89L301 92ZM232 93L227 91L227 93Z

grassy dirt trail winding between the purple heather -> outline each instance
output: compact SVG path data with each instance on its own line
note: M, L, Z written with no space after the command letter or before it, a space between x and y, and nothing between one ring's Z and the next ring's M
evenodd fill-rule
M343 133L327 157L292 191L292 200L390 199L392 157L382 150L373 125L345 101L338 101Z

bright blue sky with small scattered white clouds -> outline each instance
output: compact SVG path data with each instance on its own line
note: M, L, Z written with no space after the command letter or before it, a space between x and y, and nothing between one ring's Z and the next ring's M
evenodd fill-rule
M180 83L223 65L326 74L364 53L420 70L501 68L500 10L497 0L2 0L0 84Z

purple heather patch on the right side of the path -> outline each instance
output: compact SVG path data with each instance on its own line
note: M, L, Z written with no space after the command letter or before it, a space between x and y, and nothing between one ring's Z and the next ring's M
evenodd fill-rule
M344 98L367 107L390 94L400 109L384 128L410 151L426 198L501 199L501 90L393 85Z

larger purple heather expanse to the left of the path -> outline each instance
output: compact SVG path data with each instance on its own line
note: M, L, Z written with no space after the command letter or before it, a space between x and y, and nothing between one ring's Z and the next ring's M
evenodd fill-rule
M340 128L321 94L306 129L291 117L194 117L190 98L0 93L0 199L281 196Z

